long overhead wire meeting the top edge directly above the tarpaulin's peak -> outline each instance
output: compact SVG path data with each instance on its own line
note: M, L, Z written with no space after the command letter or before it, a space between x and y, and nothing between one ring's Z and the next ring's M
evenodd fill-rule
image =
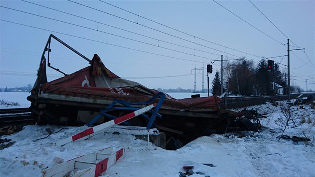
M175 31L177 31L177 32L186 34L186 35L191 36L191 37L193 37L193 38L197 38L197 39L203 40L203 41L205 41L205 42L209 42L209 43L212 43L212 44L215 44L215 45L218 45L218 46L221 46L221 47L225 47L225 48L228 48L228 49L231 49L231 50L234 50L234 51L238 51L238 52L241 52L241 53L244 53L244 54L248 54L248 55L251 55L251 56L255 56L255 57L258 57L258 58L262 58L261 56L257 56L257 55L250 54L250 53L247 53L247 52L244 52L244 51L240 51L240 50L237 50L237 49L233 49L233 48L230 48L230 47L227 47L227 46L224 46L224 45L221 45L221 44L218 44L218 43L215 43L215 42L212 42L212 41L209 41L209 40L206 40L206 39L197 37L197 36L194 36L194 35L192 35L192 34L188 34L188 33L186 33L186 32L183 32L183 31L181 31L181 30L178 30L178 29L175 29L175 28L173 28L173 27L167 26L167 25L162 24L162 23L160 23L160 22L157 22L157 21L154 21L154 20L152 20L152 19L149 19L149 18L143 17L143 16L141 16L141 15L135 14L135 13L133 13L133 12L131 12L131 11L126 10L126 9L123 9L123 8L118 7L118 6L112 5L112 4L110 4L110 3L108 3L108 2L105 2L105 1L103 1L103 0L99 0L99 1L101 1L101 2L103 2L103 3L106 3L106 4L108 4L108 5L111 5L111 6L115 7L115 8L120 9L120 10L123 10L123 11L126 11L126 12L128 12L128 13L131 13L131 14L133 14L133 15L136 15L136 16L138 16L138 17L141 17L141 18L143 18L143 19L146 19L146 20L148 20L148 21L151 21L151 22L153 22L153 23L156 23L156 24L159 24L159 25L161 25L161 26L167 27L167 28L169 28L169 29L175 30ZM139 24L139 23L137 22L137 24ZM195 42L194 42L194 43L195 43Z

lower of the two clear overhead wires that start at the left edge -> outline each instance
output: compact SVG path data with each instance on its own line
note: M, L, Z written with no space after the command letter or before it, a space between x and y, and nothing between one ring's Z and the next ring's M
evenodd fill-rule
M93 40L93 39L89 39L89 38L79 37L79 36L75 36L75 35L72 35L72 34L67 34L67 33L63 33L63 32L58 32L58 31L53 31L53 30L44 29L44 28L40 28L40 27L35 27L35 26L30 26L30 25L26 25L26 24L17 23L17 22L12 22L12 21L8 21L8 20L4 20L4 19L0 19L0 21L5 21L5 22L13 23L13 24L26 26L26 27L31 27L31 28L35 28L35 29L45 30L45 31L49 31L49 32L62 34L62 35L67 35L67 36L70 36L70 37L80 38L80 39L84 39L84 40L89 40L89 41L98 42L98 43L111 45L111 46L115 46L115 47L120 47L120 48L124 48L124 49L139 51L139 52L143 52L143 53L153 54L153 55L157 55L157 56L162 56L162 57L167 57L167 58L173 58L173 59L179 59L179 60L184 60L184 61L191 61L191 62L198 62L198 63L206 64L206 62L194 61L194 60L190 60L190 59L184 59L184 58L179 58L179 57L167 56L167 55L162 55L162 54L158 54L158 53L138 50L138 49L129 48L129 47L125 47L125 46L120 46L120 45L115 45L115 44L106 43L106 42L102 42L102 41L97 41L97 40Z

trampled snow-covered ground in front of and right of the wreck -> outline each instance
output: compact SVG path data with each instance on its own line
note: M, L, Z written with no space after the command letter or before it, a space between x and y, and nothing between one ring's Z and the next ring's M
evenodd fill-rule
M114 126L89 139L60 147L55 142L86 127L28 125L18 133L1 137L15 143L0 152L0 176L41 176L44 168L106 147L129 149L102 176L179 176L180 171L185 172L185 165L192 165L194 172L209 176L315 176L315 147L312 146L315 110L309 105L303 105L303 109L293 106L292 113L299 119L284 133L290 137L306 136L311 141L305 145L292 140L278 141L276 137L281 135L281 128L276 121L282 116L279 106L267 103L253 108L266 115L261 119L260 133L204 136L175 151L135 138L133 134L146 134L145 129ZM301 123L302 117L306 122ZM53 132L50 136L49 131ZM36 140L42 137L47 138ZM213 167L204 164L213 164Z

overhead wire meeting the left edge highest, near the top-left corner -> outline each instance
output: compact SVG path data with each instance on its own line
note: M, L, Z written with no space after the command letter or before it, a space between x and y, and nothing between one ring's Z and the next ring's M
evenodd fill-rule
M22 13L26 13L26 14L30 14L30 15L34 15L34 16L38 16L38 17L42 17L42 18L46 18L46 19L50 19L50 20L54 20L54 21L58 21L58 22L62 22L62 23L66 23L66 24L70 24L70 25L74 25L74 26L77 26L77 27L93 30L93 31L96 31L96 32L105 33L105 34L108 34L108 35L124 38L124 39L131 40L131 41L136 41L136 42L139 42L139 43L143 43L143 44L146 44L146 45L163 48L163 49L170 50L170 51L175 51L175 52L179 52L179 53L183 53L183 54L187 54L187 55L191 55L191 56L195 56L195 57L200 57L200 58L203 58L203 59L213 60L213 59L208 58L208 57L203 57L203 56L199 56L199 55L195 55L195 54L191 54L191 53L187 53L187 52L183 52L183 51L178 51L178 50L175 50L175 49L170 49L170 48L167 48L167 47L162 47L162 46L151 44L151 43L148 43L148 42L143 42L143 41L140 41L140 40L131 39L131 38L124 37L124 36L121 36L121 35L112 34L112 33L109 33L109 32L98 30L98 29L93 29L93 28L90 28L90 27L86 27L86 26L82 26L82 25L78 25L78 24L74 24L74 23L70 23L70 22L66 22L66 21L62 21L62 20L58 20L58 19L54 19L54 18L37 15L37 14L34 14L34 13L29 13L29 12L25 12L25 11L13 9L13 8L8 8L8 7L4 7L4 6L0 6L0 7L7 8L7 9L10 9L10 10L14 10L14 11L18 11L18 12L22 12Z

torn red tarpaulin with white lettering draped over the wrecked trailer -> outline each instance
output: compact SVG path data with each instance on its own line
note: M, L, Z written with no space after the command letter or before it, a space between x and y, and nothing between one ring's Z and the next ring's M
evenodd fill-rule
M48 94L131 102L147 101L159 92L118 77L105 67L97 54L94 55L91 64L75 73L45 83L42 90ZM167 95L163 106L183 110L218 110L219 101L220 98L216 96L178 100Z

